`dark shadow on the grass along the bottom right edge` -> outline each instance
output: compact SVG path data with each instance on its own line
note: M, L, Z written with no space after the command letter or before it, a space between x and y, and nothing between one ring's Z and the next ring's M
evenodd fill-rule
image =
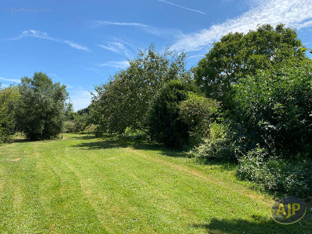
M267 220L265 217L252 217L254 221L243 219L217 219L212 220L207 224L193 224L191 227L206 229L213 233L256 233L256 234L272 234L272 233L304 233L309 230L309 224L295 223L291 225L282 225L274 222L272 219ZM307 232L306 232L307 233Z

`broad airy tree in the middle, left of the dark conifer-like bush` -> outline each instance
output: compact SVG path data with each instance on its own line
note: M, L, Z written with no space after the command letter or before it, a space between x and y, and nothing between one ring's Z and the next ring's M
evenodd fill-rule
M166 48L161 54L154 44L129 60L129 67L117 72L109 82L95 86L90 105L91 119L98 132L124 133L127 127L146 132L155 96L171 79L190 79L185 69L186 54Z

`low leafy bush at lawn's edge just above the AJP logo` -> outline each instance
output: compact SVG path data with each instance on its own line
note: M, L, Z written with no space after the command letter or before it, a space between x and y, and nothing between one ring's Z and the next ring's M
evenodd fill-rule
M258 146L239 159L237 175L273 193L300 197L312 193L312 161L300 154L287 160Z

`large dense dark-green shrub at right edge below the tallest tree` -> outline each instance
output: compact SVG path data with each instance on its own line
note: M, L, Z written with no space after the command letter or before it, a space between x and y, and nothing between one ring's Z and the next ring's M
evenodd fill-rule
M246 149L275 144L277 154L311 156L312 62L284 63L233 85L237 131ZM235 127L234 121L232 127Z

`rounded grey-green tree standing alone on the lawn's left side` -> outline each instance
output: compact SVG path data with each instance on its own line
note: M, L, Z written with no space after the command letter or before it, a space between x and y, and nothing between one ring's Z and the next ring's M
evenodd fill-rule
M28 139L57 138L72 108L66 85L53 83L46 73L35 72L32 78L23 77L18 88L21 98L16 112L17 128Z

